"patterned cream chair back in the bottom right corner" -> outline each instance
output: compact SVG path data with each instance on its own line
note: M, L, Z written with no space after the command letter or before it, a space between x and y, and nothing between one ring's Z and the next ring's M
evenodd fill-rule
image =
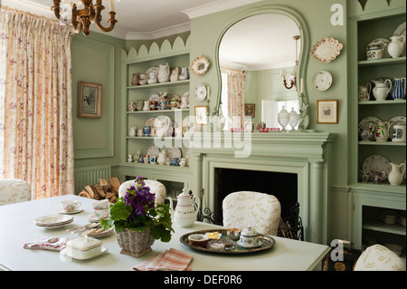
M354 271L405 271L405 263L389 248L382 245L369 246L360 255Z

